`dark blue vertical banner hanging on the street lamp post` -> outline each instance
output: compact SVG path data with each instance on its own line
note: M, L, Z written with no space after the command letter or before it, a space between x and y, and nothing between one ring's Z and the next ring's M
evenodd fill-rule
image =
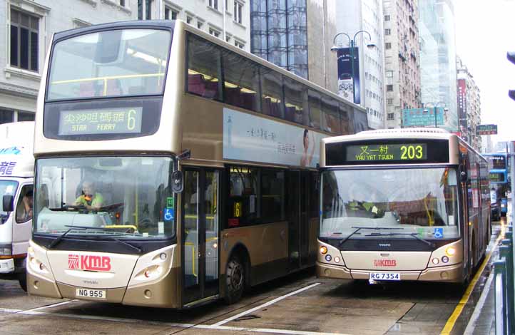
M338 49L338 95L359 105L361 103L359 48L354 48L354 78L352 78L351 58L350 48ZM355 91L355 101L352 101L353 90Z

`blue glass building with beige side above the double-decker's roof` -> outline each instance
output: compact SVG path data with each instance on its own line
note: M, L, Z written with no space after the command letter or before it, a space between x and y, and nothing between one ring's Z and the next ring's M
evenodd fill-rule
M251 0L250 51L336 92L336 0Z

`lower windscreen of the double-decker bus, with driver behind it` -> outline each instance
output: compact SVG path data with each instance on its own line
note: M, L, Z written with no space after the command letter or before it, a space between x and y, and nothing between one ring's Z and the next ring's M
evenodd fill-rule
M169 237L175 234L172 160L163 157L51 158L38 163L34 231ZM74 234L77 232L73 232Z

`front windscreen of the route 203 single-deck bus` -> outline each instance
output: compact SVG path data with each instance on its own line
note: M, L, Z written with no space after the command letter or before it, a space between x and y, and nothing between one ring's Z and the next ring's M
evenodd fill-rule
M392 232L424 239L459 236L457 175L451 168L325 171L321 206L322 237L345 237L357 227L386 228L388 238L396 238Z

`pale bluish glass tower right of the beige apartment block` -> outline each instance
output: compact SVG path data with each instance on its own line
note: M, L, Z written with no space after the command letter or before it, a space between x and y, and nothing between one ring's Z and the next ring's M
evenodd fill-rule
M445 128L458 130L456 41L452 0L419 0L422 103L447 108Z

